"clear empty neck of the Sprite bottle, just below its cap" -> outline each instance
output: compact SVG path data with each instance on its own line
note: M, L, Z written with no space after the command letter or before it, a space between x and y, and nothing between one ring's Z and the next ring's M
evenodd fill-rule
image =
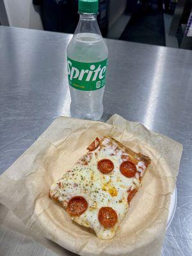
M97 23L97 13L79 13L79 23L74 34L78 33L94 33L101 35Z

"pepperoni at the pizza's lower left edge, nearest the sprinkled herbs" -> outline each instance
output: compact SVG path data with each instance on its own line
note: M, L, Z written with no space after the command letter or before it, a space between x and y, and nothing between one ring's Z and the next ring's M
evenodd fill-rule
M83 196L74 196L70 199L67 205L67 212L71 216L80 216L86 211L88 202Z

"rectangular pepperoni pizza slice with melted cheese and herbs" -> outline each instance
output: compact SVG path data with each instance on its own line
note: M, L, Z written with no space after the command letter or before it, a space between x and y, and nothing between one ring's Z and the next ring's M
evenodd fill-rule
M52 184L49 196L58 200L70 218L111 239L140 188L150 159L115 139L96 138L88 152Z

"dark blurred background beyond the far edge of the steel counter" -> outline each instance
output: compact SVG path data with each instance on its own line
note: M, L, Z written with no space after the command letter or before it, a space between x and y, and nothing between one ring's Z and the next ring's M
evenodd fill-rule
M74 33L78 0L0 0L0 24ZM102 35L192 49L192 0L99 0Z

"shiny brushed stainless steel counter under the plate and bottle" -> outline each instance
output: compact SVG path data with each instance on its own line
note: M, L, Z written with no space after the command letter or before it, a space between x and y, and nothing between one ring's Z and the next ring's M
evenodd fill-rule
M56 116L70 115L66 47L71 37L0 26L1 173ZM106 42L109 65L102 120L118 113L184 145L177 179L177 209L166 231L162 254L189 256L192 254L192 51L116 40ZM0 255L56 253L1 225ZM63 255L72 253L63 250Z

